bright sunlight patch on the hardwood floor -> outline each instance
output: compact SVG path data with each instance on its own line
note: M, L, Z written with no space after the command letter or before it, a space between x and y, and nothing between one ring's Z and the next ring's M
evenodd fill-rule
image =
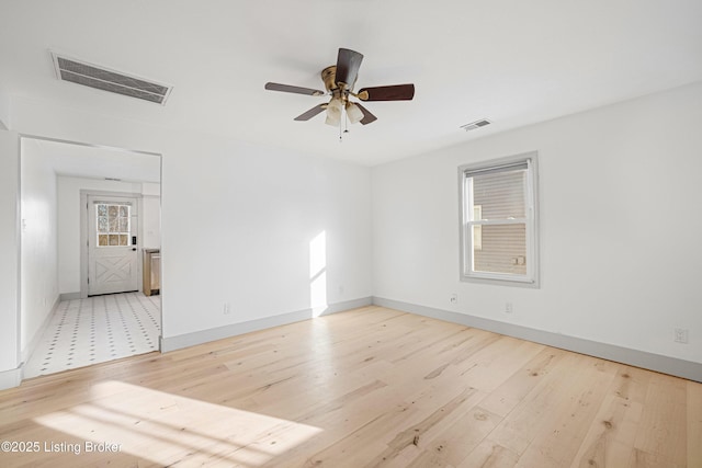
M120 444L123 455L159 466L183 460L188 466L215 460L260 466L321 432L319 427L116 380L95 385L90 403L34 421L59 432L55 436L58 441L71 436L73 441ZM83 457L89 455L81 454L77 461L88 461L90 458Z

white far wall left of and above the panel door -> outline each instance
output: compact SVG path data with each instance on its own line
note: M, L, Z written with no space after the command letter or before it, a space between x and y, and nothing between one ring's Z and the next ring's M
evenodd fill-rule
M141 183L58 176L58 277L60 294L80 293L80 191L141 193Z

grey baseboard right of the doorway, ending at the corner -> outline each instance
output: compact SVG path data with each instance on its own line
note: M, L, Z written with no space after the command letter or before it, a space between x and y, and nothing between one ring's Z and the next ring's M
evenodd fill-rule
M360 299L347 300L328 305L320 313L315 310L304 309L294 312L282 313L279 316L265 317L262 319L249 320L230 326L217 327L196 331L193 333L179 334L176 336L160 338L161 353L181 350L183 347L194 346L196 344L208 343L211 341L222 340L225 338L236 336L239 334L250 333L252 331L264 330L273 327L286 326L303 320L309 320L318 316L328 316L330 313L342 312L344 310L366 307L373 304L372 297L363 297Z

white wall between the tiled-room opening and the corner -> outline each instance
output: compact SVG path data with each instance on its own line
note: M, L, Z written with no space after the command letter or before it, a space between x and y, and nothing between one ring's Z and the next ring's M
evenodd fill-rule
M12 123L163 155L165 338L309 308L310 241L321 231L328 304L371 296L367 168L26 100L13 101Z

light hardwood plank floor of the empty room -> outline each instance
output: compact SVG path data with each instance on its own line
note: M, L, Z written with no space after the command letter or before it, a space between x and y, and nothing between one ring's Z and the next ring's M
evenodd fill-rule
M38 448L2 467L697 468L702 384L366 307L24 381L0 441Z

